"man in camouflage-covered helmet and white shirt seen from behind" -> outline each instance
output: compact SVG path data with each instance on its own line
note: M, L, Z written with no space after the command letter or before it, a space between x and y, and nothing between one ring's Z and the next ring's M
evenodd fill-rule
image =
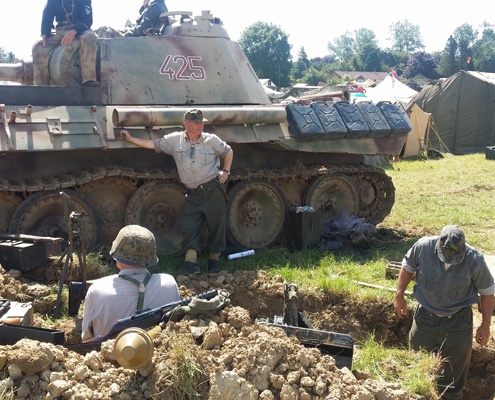
M120 272L97 279L89 287L84 299L83 342L105 336L119 319L180 300L173 276L148 270L158 262L155 237L148 229L123 227L110 255Z

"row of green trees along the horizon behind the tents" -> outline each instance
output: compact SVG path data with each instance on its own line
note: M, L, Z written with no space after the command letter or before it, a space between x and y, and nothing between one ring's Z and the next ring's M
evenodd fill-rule
M449 77L461 70L495 72L495 30L484 22L480 31L470 24L457 27L441 51L427 53L418 25L408 20L389 26L391 47L382 49L375 33L367 28L345 32L328 43L328 54L309 59L301 47L292 60L288 35L274 24L256 22L246 28L239 44L260 78L278 87L295 83L317 85L341 83L333 71L387 72L403 78L430 80Z

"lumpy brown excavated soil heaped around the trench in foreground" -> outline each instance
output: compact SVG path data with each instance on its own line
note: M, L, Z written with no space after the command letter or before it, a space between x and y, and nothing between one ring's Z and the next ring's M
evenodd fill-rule
M0 297L32 302L34 325L42 326L43 316L54 306L53 301L46 300L54 287L12 276L12 271L0 272ZM170 322L154 340L152 362L139 370L119 366L112 354L114 340L105 342L101 351L85 355L28 339L0 346L0 398L12 391L14 395L5 398L420 398L398 384L384 383L347 367L338 368L331 355L302 345L283 329L257 323L256 319L273 321L275 315L282 314L284 285L280 277L264 271L222 271L179 276L177 281L182 297L223 288L230 293L230 305L218 314L186 316L180 322ZM411 323L399 321L389 301L357 303L351 298L324 294L317 288L299 288L299 310L304 310L314 329L352 336L354 355L359 351L359 341L372 332L386 346L405 344ZM477 310L475 314L477 326ZM64 331L66 344L79 342L80 318L65 320L53 328ZM488 346L474 345L465 400L495 398L494 330L492 326ZM199 396L190 394L194 392Z

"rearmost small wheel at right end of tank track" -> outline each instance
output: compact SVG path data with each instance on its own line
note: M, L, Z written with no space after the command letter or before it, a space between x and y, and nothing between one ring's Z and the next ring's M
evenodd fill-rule
M359 197L359 217L379 224L390 214L395 201L392 179L382 172L363 172L355 183Z

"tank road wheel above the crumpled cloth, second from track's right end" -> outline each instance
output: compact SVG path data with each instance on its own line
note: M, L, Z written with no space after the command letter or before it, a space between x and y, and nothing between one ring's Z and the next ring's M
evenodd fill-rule
M322 175L315 179L308 188L304 204L321 213L323 224L358 212L356 190L345 175Z

